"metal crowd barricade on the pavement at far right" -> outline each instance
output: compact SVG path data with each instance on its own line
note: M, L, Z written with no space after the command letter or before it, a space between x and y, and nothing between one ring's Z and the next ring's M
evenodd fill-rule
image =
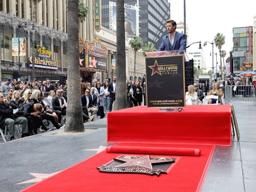
M253 85L225 86L225 104L255 104L255 87Z

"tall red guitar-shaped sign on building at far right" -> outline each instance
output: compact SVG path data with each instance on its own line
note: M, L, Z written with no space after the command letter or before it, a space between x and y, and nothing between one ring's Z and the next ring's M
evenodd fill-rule
M253 28L252 26L248 26L248 33L249 33L249 50L244 52L244 61L242 62L242 68L243 70L252 70L252 32Z

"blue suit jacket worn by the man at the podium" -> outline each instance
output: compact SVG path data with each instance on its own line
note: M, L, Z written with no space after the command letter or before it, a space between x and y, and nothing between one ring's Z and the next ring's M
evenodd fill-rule
M187 39L186 35L184 33L179 33L176 31L174 36L173 45L170 43L170 34L165 35L163 37L163 42L161 43L160 47L158 48L158 51L164 51L166 48L166 51L170 50L186 50L187 45Z

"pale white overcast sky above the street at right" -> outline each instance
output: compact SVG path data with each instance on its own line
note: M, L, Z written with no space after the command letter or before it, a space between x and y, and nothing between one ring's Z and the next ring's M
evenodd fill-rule
M184 21L184 0L168 0L171 3L171 19L177 23ZM201 41L206 59L206 66L212 66L212 45L203 47L205 41L212 42L217 33L223 33L226 43L222 49L227 52L233 48L233 28L253 26L253 17L256 16L256 1L230 1L230 0L187 0L186 1L186 24L188 26L189 42ZM191 45L198 46L196 43ZM196 48L196 47L195 47ZM213 52L218 49L213 48ZM214 55L214 63L216 63ZM220 61L218 54L218 62Z

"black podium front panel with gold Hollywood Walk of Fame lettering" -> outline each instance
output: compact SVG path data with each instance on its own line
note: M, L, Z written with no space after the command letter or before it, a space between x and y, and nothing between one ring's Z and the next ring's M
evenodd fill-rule
M186 107L184 55L146 57L147 107Z

